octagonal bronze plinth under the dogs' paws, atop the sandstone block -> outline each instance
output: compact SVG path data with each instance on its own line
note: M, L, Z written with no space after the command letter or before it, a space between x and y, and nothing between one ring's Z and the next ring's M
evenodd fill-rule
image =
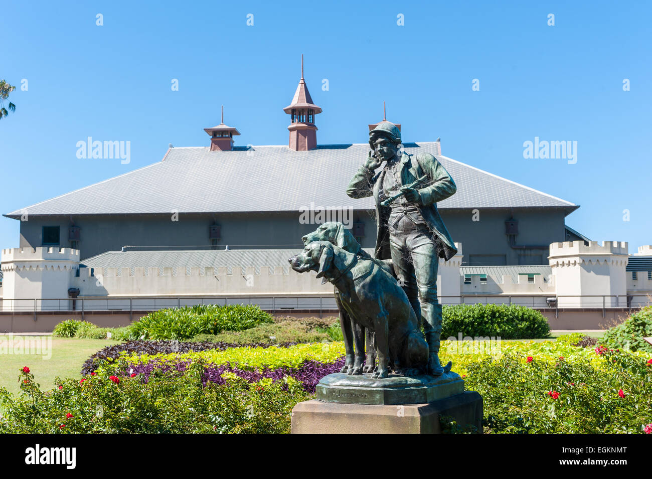
M452 371L441 376L407 377L391 374L373 379L370 374L334 373L317 385L317 399L325 403L378 406L426 404L464 392L464 380Z

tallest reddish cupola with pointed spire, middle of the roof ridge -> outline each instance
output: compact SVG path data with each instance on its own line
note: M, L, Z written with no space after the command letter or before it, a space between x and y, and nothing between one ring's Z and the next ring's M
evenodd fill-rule
M321 108L312 103L310 92L303 80L303 55L301 55L301 80L292 98L291 104L283 109L291 115L292 123L288 126L289 148L294 151L312 150L317 146L317 127L315 115L321 113Z

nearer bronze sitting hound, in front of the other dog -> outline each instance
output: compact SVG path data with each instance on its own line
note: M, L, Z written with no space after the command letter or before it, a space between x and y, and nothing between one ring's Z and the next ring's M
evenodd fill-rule
M326 241L308 243L288 261L297 272L314 270L333 283L355 324L374 330L378 368L372 377L388 377L390 363L398 374L424 373L428 344L408 296L387 270Z

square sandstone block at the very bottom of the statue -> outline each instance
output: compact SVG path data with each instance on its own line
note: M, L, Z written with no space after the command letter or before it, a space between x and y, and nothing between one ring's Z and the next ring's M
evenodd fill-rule
M368 405L313 399L292 410L293 434L439 434L441 416L482 433L482 396L467 391L429 404Z

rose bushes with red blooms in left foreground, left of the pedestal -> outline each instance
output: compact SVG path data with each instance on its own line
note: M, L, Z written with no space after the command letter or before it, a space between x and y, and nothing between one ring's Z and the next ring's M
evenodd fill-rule
M147 383L99 371L57 378L47 392L21 371L20 397L0 388L0 433L288 433L292 408L310 397L292 377L248 383L231 373L224 385L204 386L203 370L198 362Z

